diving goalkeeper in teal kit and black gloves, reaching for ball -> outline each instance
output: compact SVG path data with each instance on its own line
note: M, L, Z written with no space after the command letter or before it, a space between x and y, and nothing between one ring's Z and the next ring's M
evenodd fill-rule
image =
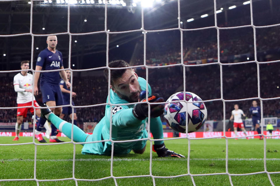
M128 63L122 60L117 60L109 63L109 67L120 68L129 67ZM112 140L136 140L148 138L146 130L146 121L148 117L147 103L138 103L131 105L121 105L124 103L135 103L146 96L146 80L138 77L134 69L111 69L111 79L108 79L108 69L104 70L104 75L111 82L110 102L116 104L110 108L106 105L105 116L96 125L92 135L83 132L77 126L74 127L73 140L74 142L95 142L110 139L110 119L112 116ZM143 90L143 92L141 92ZM151 95L151 87L148 85L148 101L150 103L163 102L158 94ZM143 99L142 101L146 101ZM109 102L109 96L107 102ZM118 105L120 104L120 105ZM163 104L150 105L150 131L154 139L163 139L162 122L160 115L163 113ZM60 119L53 114L50 109L41 109L41 115L51 121L59 130L67 137L71 138L72 124ZM130 142L115 142L114 155L125 155L130 151L142 154L146 149L147 140L130 141ZM95 142L83 144L83 154L111 155L112 142ZM168 150L163 140L155 141L153 151L159 157L184 157L181 154Z

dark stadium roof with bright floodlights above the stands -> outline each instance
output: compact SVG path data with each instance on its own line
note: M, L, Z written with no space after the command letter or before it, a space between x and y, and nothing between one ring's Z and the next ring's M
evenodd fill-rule
M73 0L70 0L73 1ZM104 0L105 1L105 0ZM110 0L111 1L111 0ZM107 29L110 32L141 29L140 0L123 0L126 3L109 4L107 8ZM245 0L217 0L216 8L227 10L228 7L242 6ZM258 1L258 0L255 0ZM65 2L65 1L64 1ZM112 2L112 1L111 1ZM117 1L116 1L117 2ZM136 2L136 6L132 3ZM191 18L202 19L201 15L214 13L213 0L180 1L181 21L187 23ZM0 35L21 34L30 32L29 0L0 2ZM33 1L32 33L36 35L66 33L67 11L66 3L51 1ZM104 31L104 2L99 0L77 1L70 6L70 33L89 33ZM175 0L155 0L153 7L144 8L144 27L146 30L178 27L178 4ZM85 21L86 20L86 21ZM143 37L142 31L131 33L110 34L109 48ZM76 42L75 42L76 40ZM0 37L0 68L13 69L11 63L28 60L31 56L31 36ZM38 49L36 49L38 48ZM34 59L38 52L46 48L46 36L34 37ZM68 57L69 35L58 37L57 48ZM72 35L71 56L98 53L106 51L106 33L90 35Z

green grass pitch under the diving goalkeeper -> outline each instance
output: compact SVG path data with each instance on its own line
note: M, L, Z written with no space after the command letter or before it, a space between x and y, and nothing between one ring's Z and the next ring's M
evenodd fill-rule
M61 140L70 141L66 137ZM13 142L13 137L0 137L1 144L32 142L32 137L20 137ZM267 171L280 171L280 142L267 139ZM170 150L187 157L188 140L166 140ZM100 179L110 177L111 157L101 155L82 155L82 145L76 145L74 174L78 179ZM0 146L0 180L34 178L34 144L17 146ZM225 173L226 140L204 139L190 141L190 173L210 174ZM37 146L36 178L63 179L73 177L73 144ZM228 171L230 174L245 174L264 171L264 141L258 139L228 140ZM158 158L152 153L153 176L176 176L187 174L187 158ZM126 156L114 157L113 176L135 176L150 174L150 143L147 142L145 153L139 155L131 152ZM270 174L274 185L280 185L280 174ZM227 175L194 176L199 185L230 185ZM267 174L231 176L233 185L271 185ZM190 176L176 178L155 178L155 185L193 185ZM117 178L118 185L153 185L149 176L138 178ZM99 181L77 181L78 185L115 185L113 178ZM44 181L39 185L75 185L74 180ZM1 186L36 185L35 181L0 181Z

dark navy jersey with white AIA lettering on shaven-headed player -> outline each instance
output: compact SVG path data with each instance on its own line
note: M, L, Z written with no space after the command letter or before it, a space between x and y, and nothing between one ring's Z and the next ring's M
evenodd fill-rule
M56 70L63 66L62 53L56 50L55 53L46 48L42 50L37 58L36 65L42 67L42 70ZM42 72L40 78L40 85L44 83L58 85L60 80L59 71Z

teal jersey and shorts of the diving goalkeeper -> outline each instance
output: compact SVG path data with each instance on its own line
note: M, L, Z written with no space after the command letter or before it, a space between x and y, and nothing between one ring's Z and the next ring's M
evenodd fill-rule
M138 82L142 90L146 90L146 80L144 78L138 77ZM148 95L151 95L151 87L148 85ZM108 97L106 103L108 103ZM110 118L112 116L112 140L122 141L122 140L135 140L143 138L143 135L146 132L146 120L139 120L134 117L132 114L132 109L134 104L130 105L118 105L129 103L128 101L121 99L113 90L110 90L110 102L113 105L106 105L105 116L95 127L93 134L90 135L87 139L87 142L97 141L101 139L101 133L104 140L110 139ZM151 125L155 125L153 136L156 139L162 139L162 123L160 117L151 118ZM100 136L100 137L99 137ZM114 153L116 154L127 154L132 149L133 146L137 143L134 142L118 142L114 143ZM101 143L90 143L85 144L82 150L82 153L94 153L94 154L111 154L111 142L105 142L104 148Z

